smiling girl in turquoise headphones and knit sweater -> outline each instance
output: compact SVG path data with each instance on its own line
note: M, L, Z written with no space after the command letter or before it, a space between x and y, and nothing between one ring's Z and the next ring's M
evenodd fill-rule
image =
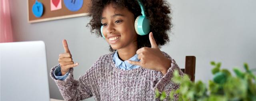
M174 69L183 73L174 59L159 49L169 42L170 13L164 0L92 0L88 25L92 33L110 44L111 53L102 55L74 80L73 67L78 63L72 61L63 40L65 53L59 55L59 65L51 69L50 75L64 99L77 101L94 96L96 101L152 101L158 100L154 98L156 89L167 93L177 89L179 85L171 81L172 73ZM141 32L136 18L140 15L146 15L145 21L149 21L150 29L143 36L138 35Z

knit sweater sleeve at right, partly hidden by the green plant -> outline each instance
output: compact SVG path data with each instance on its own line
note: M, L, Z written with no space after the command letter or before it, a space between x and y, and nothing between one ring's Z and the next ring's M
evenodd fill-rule
M180 75L183 75L184 73L180 70L179 66L176 64L175 60L172 59L167 53L162 52L168 59L170 59L171 67L167 70L167 73L163 75L160 71L157 73L157 83L155 86L155 89L158 89L159 92L165 91L166 92L166 98L169 98L170 91L176 90L179 88L179 85L172 82L171 79L173 77L174 70L178 70ZM175 95L174 97L176 100L178 99L178 95ZM166 99L164 100L166 101Z

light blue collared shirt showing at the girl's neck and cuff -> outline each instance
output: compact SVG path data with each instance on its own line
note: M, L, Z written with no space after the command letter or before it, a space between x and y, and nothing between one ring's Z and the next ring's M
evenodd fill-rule
M138 67L140 67L139 65L133 65L130 64L126 61L122 61L121 59L119 59L118 57L118 51L116 50L116 52L112 55L113 61L115 62L116 67L120 68L120 69L124 69L124 70L131 70L131 69L136 69ZM133 57L131 57L129 60L131 61L140 61L138 59L138 54L135 54ZM54 77L56 79L60 79L60 80L64 80L68 77L68 73L69 71L65 74L65 75L61 75L61 68L60 65L54 70Z

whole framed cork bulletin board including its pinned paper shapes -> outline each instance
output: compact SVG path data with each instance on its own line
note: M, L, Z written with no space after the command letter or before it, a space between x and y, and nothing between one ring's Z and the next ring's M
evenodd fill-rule
M29 23L87 16L90 5L90 0L27 0L27 2ZM42 6L36 6L38 5L38 2L39 4L42 4ZM78 4L80 2L79 10L70 10L72 8L77 8L77 6L67 4L67 2L71 2L72 4ZM69 5L72 7L70 7ZM36 17L36 15L38 14L35 13L35 10L36 12L39 12L39 10L37 11L38 7L42 7L39 8L40 10L42 10L42 12L40 12L40 17Z

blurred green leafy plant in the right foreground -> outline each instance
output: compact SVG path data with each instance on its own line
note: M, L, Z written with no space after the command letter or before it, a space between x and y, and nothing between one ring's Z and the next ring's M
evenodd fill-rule
M178 101L256 101L256 77L247 63L244 63L245 72L234 68L236 77L232 76L227 69L220 69L221 63L211 62L214 66L213 80L209 80L208 88L202 81L193 83L188 75L179 75L174 71L172 81L180 85L179 89L171 91L169 100L174 100L178 95ZM164 100L166 93L156 90L156 98Z

